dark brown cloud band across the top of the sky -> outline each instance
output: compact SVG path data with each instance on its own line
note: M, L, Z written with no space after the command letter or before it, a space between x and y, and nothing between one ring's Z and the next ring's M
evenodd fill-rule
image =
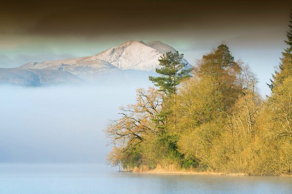
M0 6L1 33L99 36L285 23L291 0L23 0Z

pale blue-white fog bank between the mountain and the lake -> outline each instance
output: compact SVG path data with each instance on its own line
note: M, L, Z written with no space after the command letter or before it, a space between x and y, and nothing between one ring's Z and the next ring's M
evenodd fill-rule
M0 162L105 163L103 130L139 87L0 86Z

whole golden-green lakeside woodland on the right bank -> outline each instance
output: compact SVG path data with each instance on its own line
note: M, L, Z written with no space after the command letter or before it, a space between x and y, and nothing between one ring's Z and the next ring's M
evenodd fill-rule
M292 19L292 14L291 14ZM167 52L155 87L105 129L109 164L124 169L292 175L292 21L287 48L261 97L257 78L221 44L196 61ZM264 56L263 56L264 57Z

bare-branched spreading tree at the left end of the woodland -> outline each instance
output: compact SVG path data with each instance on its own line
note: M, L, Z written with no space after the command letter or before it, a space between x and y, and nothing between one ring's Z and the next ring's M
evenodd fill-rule
M158 126L164 125L164 120L159 119L159 114L164 110L164 95L164 92L152 87L138 89L136 104L120 108L121 118L112 121L105 130L110 139L109 145L114 147L109 156L111 161L117 160L119 153L123 154L140 144L145 136L154 137L160 131Z

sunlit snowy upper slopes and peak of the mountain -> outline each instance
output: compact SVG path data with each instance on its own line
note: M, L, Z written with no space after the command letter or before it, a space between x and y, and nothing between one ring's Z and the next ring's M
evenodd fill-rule
M87 71L87 68L90 68L91 72L109 71L115 68L154 71L159 66L158 59L167 51L176 50L160 41L145 44L142 41L131 40L94 56L29 63L20 68L55 69L68 71L76 76L84 70Z

